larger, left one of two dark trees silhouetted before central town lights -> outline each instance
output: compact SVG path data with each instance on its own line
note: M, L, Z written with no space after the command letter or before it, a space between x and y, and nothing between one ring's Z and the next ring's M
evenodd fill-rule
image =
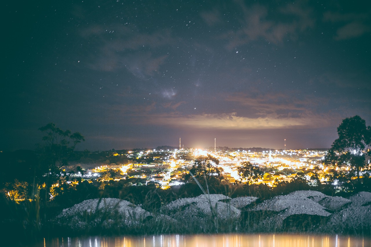
M219 165L219 159L208 154L207 156L199 156L194 160L191 174L198 179L198 181L205 181L206 185L220 182L223 179L221 173L223 169L217 167Z

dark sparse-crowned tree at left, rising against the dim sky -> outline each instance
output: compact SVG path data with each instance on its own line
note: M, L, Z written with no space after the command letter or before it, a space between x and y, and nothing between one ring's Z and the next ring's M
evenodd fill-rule
M37 149L39 167L35 170L35 182L40 188L45 189L45 200L47 200L52 184L61 176L60 168L79 158L74 150L76 145L85 139L79 132L63 131L55 123L48 123L39 130L46 135L42 138L43 144Z

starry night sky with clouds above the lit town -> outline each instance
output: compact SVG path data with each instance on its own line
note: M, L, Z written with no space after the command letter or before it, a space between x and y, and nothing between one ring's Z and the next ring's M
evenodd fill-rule
M2 3L0 150L329 148L371 125L370 1Z

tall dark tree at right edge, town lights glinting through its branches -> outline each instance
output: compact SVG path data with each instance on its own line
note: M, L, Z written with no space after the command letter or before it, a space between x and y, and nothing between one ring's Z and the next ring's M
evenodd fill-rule
M343 119L338 129L339 138L334 141L325 155L324 164L335 168L334 179L354 188L354 177L359 177L371 155L371 127L360 116Z

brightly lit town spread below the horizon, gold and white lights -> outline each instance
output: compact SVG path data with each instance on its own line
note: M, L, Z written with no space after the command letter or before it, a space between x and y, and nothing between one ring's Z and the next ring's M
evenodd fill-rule
M106 160L103 162L90 160L89 163L81 162L71 167L64 167L63 170L71 180L67 182L73 185L76 183L73 181L77 177L91 182L128 180L132 181L130 182L132 186L155 185L162 189L168 189L171 186L184 183L184 176L189 173L194 165L194 160L200 155L211 155L217 158L219 164L215 165L222 169L221 175L224 181L230 183L251 182L274 187L279 182L290 182L300 177L307 180L308 184L317 185L318 182L328 182L333 171L333 167L326 166L322 162L326 154L325 150L272 150L264 148L226 150L218 148L210 151L180 148L112 150L105 151L105 154ZM126 161L126 163L117 162L120 160ZM264 175L254 181L246 181L240 177L237 168L244 161L258 166ZM78 167L77 170L76 167ZM347 169L347 167L340 169Z

